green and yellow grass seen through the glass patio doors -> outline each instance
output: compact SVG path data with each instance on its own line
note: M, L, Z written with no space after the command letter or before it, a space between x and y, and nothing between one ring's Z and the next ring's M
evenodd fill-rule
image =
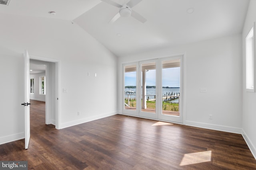
M125 99L124 101L126 104L128 104L128 100ZM155 101L147 101L147 108L149 109L155 109L156 108L156 102ZM130 107L136 107L136 100L130 99ZM162 110L166 111L179 111L179 104L178 103L170 103L170 102L163 102L162 103Z

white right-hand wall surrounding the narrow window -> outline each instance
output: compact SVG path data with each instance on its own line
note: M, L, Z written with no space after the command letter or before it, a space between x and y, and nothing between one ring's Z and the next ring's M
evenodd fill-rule
M246 92L246 51L245 51L245 39L250 29L252 29L254 21L256 21L256 1L251 0L248 8L248 13L246 16L246 21L244 23L244 29L242 33L242 47L243 47L243 115L242 115L242 129L243 136L246 139L250 150L254 154L256 158L256 93L254 92ZM255 46L254 46L255 47ZM254 76L255 78L255 76Z

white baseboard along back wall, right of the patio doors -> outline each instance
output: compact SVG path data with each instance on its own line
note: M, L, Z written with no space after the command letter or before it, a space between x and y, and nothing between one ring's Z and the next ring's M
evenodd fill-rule
M185 125L194 126L194 127L201 127L201 128L205 128L205 129L212 129L212 130L217 130L217 131L224 131L224 132L242 134L242 129L237 128L237 127L213 125L213 124L200 123L200 122L194 122L194 121L186 121Z

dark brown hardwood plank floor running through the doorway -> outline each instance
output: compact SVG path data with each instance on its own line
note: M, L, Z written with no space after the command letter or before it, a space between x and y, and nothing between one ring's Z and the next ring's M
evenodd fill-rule
M114 115L56 130L31 101L31 139L0 145L0 160L36 170L255 170L242 135Z

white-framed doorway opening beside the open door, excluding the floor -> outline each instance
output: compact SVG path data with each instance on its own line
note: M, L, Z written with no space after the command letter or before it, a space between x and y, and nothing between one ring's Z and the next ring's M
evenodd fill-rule
M38 72L41 70L41 73L31 74L34 75L34 94L30 97L34 97L32 100L45 102L45 124L52 124L56 129L60 129L59 61L30 55L30 64L34 64L35 68L39 69ZM42 71L44 68L45 72ZM34 72L32 68L31 70Z

